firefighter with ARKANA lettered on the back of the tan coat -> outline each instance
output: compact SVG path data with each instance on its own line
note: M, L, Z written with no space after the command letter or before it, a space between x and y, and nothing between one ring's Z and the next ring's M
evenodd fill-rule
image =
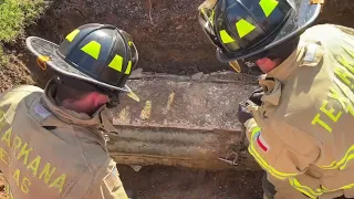
M0 170L10 198L128 198L106 147L117 133L110 108L138 61L128 33L90 23L60 45L27 39L42 70L44 91L21 85L0 96ZM135 97L136 98L136 97Z

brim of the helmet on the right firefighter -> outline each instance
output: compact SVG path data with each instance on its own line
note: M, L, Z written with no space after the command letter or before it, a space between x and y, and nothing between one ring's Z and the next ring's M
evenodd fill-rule
M293 12L289 15L287 22L278 31L278 34L267 41L267 45L257 45L248 52L239 54L226 54L221 49L217 49L217 59L227 63L241 59L246 59L263 51L267 51L293 36L300 35L308 27L310 27L320 15L321 4L311 4L309 0L295 0Z

